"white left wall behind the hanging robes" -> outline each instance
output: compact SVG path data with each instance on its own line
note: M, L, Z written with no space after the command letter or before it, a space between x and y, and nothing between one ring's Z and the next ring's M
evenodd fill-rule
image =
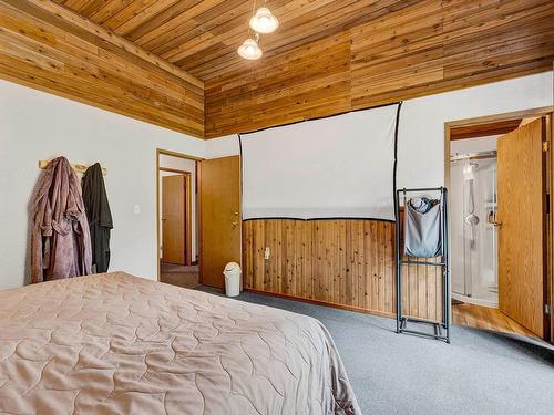
M205 156L202 139L0 81L0 289L25 281L38 163L59 155L107 169L110 270L156 279L156 147Z

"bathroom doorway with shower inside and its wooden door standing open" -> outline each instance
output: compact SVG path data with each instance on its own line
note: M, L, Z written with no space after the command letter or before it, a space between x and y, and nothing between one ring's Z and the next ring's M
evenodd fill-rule
M454 324L553 338L551 114L445 124Z

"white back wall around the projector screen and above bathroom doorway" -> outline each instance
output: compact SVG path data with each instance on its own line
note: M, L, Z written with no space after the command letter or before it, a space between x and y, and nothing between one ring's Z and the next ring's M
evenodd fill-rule
M442 185L445 122L552 105L552 72L544 72L404 101L400 113L398 186ZM207 141L206 154L208 158L239 154L237 136Z

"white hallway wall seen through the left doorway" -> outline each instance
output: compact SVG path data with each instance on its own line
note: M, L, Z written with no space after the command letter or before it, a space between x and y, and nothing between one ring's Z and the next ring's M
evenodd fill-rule
M174 157L170 156L166 154L161 154L160 155L160 167L167 167L167 168L176 168L177 170L182 172L188 172L191 173L191 204L193 205L192 207L192 212L191 212L191 220L192 220L192 226L191 226L191 234L192 234L192 246L191 246L191 256L193 258L193 261L196 260L196 245L198 241L198 229L196 226L196 162L193 159L188 158L181 158L181 157ZM173 176L175 173L171 172L160 172L160 245L162 245L162 177L165 176ZM162 255L162 246L160 247L160 255Z

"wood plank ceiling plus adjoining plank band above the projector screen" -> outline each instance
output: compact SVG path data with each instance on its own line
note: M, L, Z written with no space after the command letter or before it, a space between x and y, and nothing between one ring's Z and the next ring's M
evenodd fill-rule
M256 62L236 53L252 0L54 1L205 82L206 137L546 71L554 60L552 0L267 0L280 27Z

